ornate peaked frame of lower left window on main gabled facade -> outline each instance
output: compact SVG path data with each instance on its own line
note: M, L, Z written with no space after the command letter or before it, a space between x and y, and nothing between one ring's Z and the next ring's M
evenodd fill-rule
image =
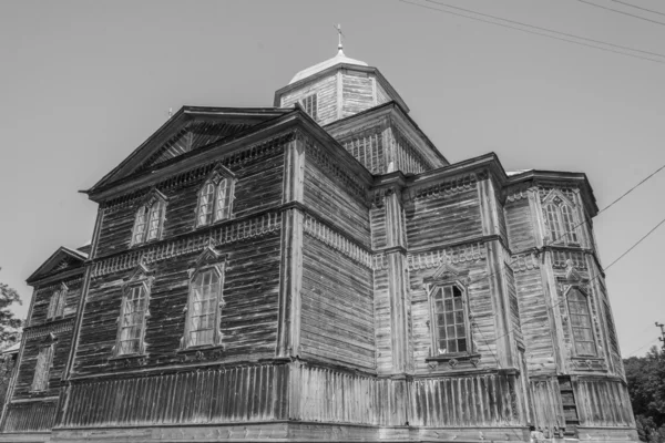
M117 316L116 322L116 332L115 332L115 344L113 346L113 357L114 359L123 359L123 358L132 358L137 356L146 354L146 342L145 342L145 332L147 329L147 320L150 318L150 298L152 284L154 281L154 277L151 276L151 272L143 266L140 265L139 268L134 271L134 274L125 280L122 286L122 297L120 298L120 315ZM136 352L122 352L121 343L122 331L123 331L123 319L126 315L125 307L127 302L127 298L133 295L135 288L141 288L144 291L144 309L142 311L141 318L141 333L139 339L139 349ZM132 312L134 313L134 312ZM126 341L126 340L124 340Z

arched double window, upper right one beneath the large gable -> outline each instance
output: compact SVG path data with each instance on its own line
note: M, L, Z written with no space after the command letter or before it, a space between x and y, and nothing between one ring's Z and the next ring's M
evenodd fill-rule
M225 168L215 171L198 192L196 226L206 226L231 218L234 178Z

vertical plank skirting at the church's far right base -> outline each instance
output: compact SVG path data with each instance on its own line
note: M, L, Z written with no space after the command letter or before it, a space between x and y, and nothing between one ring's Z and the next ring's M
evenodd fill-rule
M623 381L573 380L581 426L634 426L628 391Z

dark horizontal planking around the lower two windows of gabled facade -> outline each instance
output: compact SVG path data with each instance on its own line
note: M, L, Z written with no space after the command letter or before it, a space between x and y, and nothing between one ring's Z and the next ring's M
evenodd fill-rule
M226 256L221 331L224 358L274 352L279 287L279 231L217 247ZM154 271L145 343L147 367L180 361L188 269L198 253L149 265ZM132 270L93 278L83 312L74 370L79 374L112 371L122 285Z

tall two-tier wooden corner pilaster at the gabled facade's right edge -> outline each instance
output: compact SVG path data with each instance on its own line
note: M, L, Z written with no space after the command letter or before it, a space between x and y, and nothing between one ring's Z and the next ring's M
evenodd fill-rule
M299 133L285 150L283 203L303 203L305 142ZM303 213L282 212L279 317L276 357L298 356L300 346L300 288L303 284Z

